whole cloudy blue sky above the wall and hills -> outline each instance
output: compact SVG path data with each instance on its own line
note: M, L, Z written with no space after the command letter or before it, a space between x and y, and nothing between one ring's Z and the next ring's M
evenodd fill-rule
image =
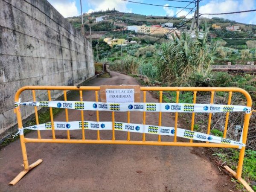
M81 15L80 0L48 0L55 9L58 10L64 17L72 17ZM151 3L166 6L185 7L187 2L171 2L166 0L132 0L142 3ZM188 6L194 7L194 4ZM180 11L177 8L159 7L150 5L141 5L137 3L129 3L122 0L82 0L83 12L93 12L99 10L113 9L120 12L133 12L142 15L161 15L173 16ZM236 12L243 10L256 9L256 0L202 0L200 2L200 13L221 13L221 12ZM184 9L177 16L187 15L187 18L192 17L188 9ZM204 17L212 17L204 15ZM216 16L214 16L216 17ZM241 23L256 24L256 12L219 15L230 20L236 20Z

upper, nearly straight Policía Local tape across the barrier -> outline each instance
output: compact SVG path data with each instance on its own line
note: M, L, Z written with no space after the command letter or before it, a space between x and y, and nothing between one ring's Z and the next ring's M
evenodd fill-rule
M246 112L251 108L241 105L211 105L189 103L103 103L78 101L42 101L15 102L18 105L41 106L52 108L78 109L87 111L149 111L149 112L183 112L183 113L226 113Z

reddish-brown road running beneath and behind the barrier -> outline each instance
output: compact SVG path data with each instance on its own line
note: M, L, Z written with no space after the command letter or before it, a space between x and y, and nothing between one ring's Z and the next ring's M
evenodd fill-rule
M130 76L111 73L112 78L97 78L88 85L138 84ZM72 100L74 98L71 98ZM79 98L76 98L79 100ZM84 101L95 101L94 92L84 91ZM147 93L147 102L157 102ZM96 121L95 111L84 111L85 120ZM116 121L127 122L127 115L116 112ZM163 126L174 126L173 115L163 114ZM70 121L80 120L80 111L69 110ZM65 121L65 113L54 117ZM100 121L111 121L111 112L100 112ZM131 113L131 122L143 121L143 113ZM157 125L158 113L148 113L146 124ZM179 125L186 127L190 125ZM41 131L42 138L50 138L51 131ZM56 131L57 138L65 138L66 131ZM26 135L36 137L36 131ZM85 137L96 139L96 131L86 130ZM102 131L101 139L111 139L111 131ZM127 133L116 131L116 139L126 139ZM81 131L71 131L72 138L81 138ZM131 140L141 140L142 134L131 134ZM157 140L157 135L146 135ZM173 137L162 137L164 141ZM220 192L233 187L230 177L220 172L209 160L193 153L190 147L47 144L28 143L29 163L43 159L43 163L29 172L15 186L8 183L23 169L20 141L0 151L1 192L83 192L83 191L171 191ZM232 189L234 191L234 189Z

